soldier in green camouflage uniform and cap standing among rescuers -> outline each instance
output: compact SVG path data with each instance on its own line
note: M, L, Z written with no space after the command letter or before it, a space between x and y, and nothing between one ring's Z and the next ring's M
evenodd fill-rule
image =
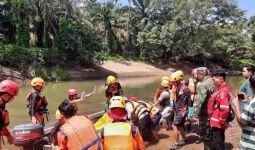
M197 68L199 86L194 98L193 118L197 118L199 135L204 143L204 149L211 147L210 121L207 113L207 104L211 94L216 90L213 79L208 75L206 67Z

